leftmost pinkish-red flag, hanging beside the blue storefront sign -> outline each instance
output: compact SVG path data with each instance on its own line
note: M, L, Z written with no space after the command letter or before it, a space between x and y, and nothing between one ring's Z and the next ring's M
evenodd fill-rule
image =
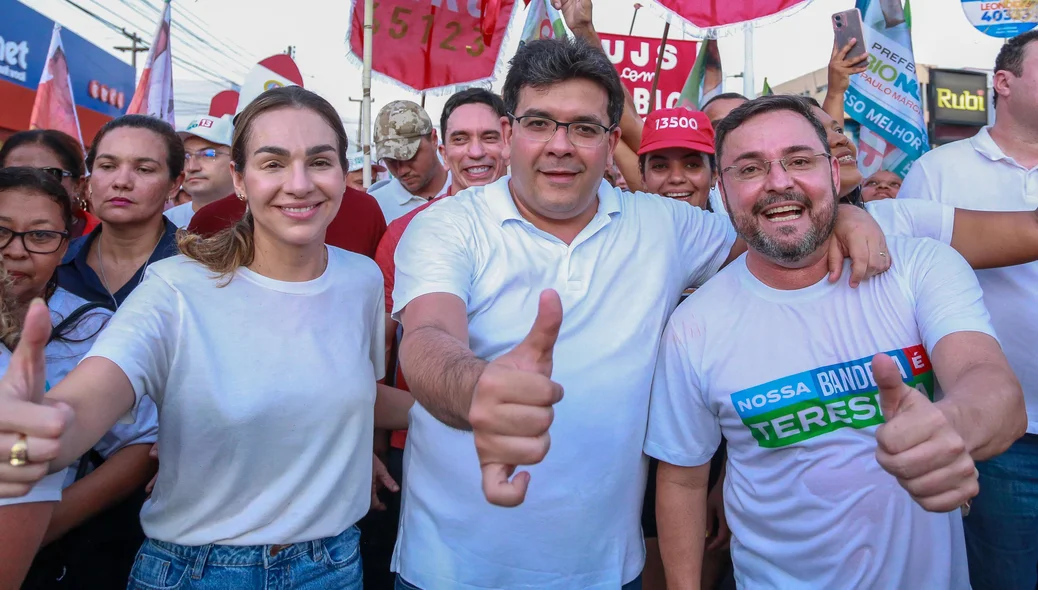
M79 130L76 101L72 95L72 76L61 45L61 26L54 24L51 48L47 52L44 74L36 87L36 100L32 104L29 129L53 129L62 131L83 144L83 134Z

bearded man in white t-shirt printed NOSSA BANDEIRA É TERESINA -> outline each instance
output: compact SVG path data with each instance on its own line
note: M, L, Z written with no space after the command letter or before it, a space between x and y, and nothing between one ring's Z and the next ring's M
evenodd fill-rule
M826 281L840 166L795 98L735 109L716 149L749 250L678 307L660 345L645 452L660 460L668 586L699 587L723 434L739 587L968 589L974 460L1027 426L976 277L944 244L891 238L889 272Z

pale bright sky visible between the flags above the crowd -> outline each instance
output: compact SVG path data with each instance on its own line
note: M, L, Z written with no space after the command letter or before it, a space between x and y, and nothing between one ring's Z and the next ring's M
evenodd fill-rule
M127 53L110 49L127 45L128 39L76 9L67 0L21 1L129 62ZM161 0L75 1L149 41ZM596 29L626 33L634 14L634 2L596 0ZM652 4L652 0L641 2ZM507 55L515 51L519 37L517 29L522 28L525 16L522 2L517 0L517 4L511 24L512 44L502 50ZM286 5L291 5L291 9L286 9ZM172 6L174 23L187 29L174 27L172 35L173 55L183 60L174 63L173 70L179 124L184 125L193 115L203 113L214 93L229 87L231 82L240 84L247 69L256 61L294 46L304 86L328 99L348 126L353 127L350 133L355 136L360 105L350 99L361 97L361 75L360 68L347 58L346 33L353 7L351 0L172 0ZM786 18L755 27L756 90L760 91L765 77L774 86L824 68L832 46L830 15L853 6L853 0L809 0L805 7ZM911 9L917 62L940 68L991 68L1002 39L975 30L962 15L957 0L912 0ZM643 8L634 23L634 34L658 38L663 27L662 8ZM672 38L681 38L682 34L681 27L672 25ZM726 75L740 74L745 56L743 33L735 31L722 36L718 47ZM143 64L144 56L138 59ZM204 72L208 80L199 72ZM493 87L499 88L500 81ZM726 89L742 91L743 80L729 78ZM372 97L375 112L392 100L418 102L417 95L377 78L373 80ZM427 97L426 108L434 122L439 119L445 101L446 96Z

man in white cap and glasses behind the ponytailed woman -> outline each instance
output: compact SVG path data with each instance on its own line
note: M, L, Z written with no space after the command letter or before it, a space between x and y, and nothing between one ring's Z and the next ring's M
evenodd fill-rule
M184 191L191 200L166 211L177 227L187 227L199 209L235 192L230 178L234 134L230 115L197 117L179 133L184 140Z

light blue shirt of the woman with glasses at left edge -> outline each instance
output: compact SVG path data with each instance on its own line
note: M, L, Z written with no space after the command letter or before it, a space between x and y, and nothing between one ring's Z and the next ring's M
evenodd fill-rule
M47 302L51 310L51 325L57 326L73 312L88 303L86 299L58 288ZM47 345L45 354L48 390L76 368L111 317L112 313L108 310L101 307L90 310L65 332L64 340L55 340ZM9 364L10 351L0 345L0 375L7 372ZM159 417L155 404L147 401L141 404L134 423L116 424L93 446L93 449L107 459L125 447L155 442L158 429ZM0 499L0 506L27 502L57 502L61 500L61 490L76 481L78 468L77 459L67 470L51 474L40 480L28 494L16 499Z

